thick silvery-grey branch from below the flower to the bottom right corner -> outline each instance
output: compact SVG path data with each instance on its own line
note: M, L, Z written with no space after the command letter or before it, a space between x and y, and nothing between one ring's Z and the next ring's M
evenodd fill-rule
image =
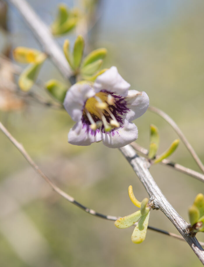
M204 265L203 248L199 244L196 237L189 231L189 224L171 206L154 181L148 170L150 163L147 161L147 159L139 157L131 145L126 145L119 150L130 163L138 178L147 190L147 193L150 195L150 203L152 203L152 207L155 209L160 209L168 217L182 237L187 241L191 249L193 249L195 254L198 256L198 259Z

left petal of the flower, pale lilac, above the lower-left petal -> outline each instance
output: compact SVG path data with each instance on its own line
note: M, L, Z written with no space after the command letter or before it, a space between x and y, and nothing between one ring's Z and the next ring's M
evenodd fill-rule
M75 122L80 121L86 100L94 95L94 89L89 84L74 84L67 91L64 108Z

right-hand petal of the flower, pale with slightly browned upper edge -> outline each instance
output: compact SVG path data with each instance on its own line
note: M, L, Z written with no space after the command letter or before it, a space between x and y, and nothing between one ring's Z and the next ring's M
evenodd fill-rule
M126 119L132 121L142 116L149 107L149 97L145 92L129 90L125 100L127 108L130 110L126 114Z

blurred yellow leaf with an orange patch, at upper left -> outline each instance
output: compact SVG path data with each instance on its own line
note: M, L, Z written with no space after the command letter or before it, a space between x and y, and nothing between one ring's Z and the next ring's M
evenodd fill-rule
M18 46L13 50L13 57L20 63L36 63L40 53L36 49Z

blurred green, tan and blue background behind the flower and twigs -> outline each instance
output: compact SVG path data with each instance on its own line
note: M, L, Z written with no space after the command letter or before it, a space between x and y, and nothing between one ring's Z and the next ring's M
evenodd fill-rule
M47 25L52 23L59 1L28 2ZM82 8L82 1L64 2ZM86 49L107 48L103 67L117 66L131 89L145 91L150 105L175 120L204 162L203 10L201 0L102 0ZM56 40L60 46L65 38L73 43L75 34L73 30ZM13 6L8 7L7 29L0 32L1 53L8 44L41 48ZM52 78L63 81L47 60L39 79ZM35 86L31 90L45 94ZM65 111L34 101L15 101L20 101L19 108L2 109L1 122L52 181L78 202L103 214L125 216L136 211L128 197L129 185L138 200L148 197L119 150L102 143L87 147L67 143L74 122ZM137 143L145 148L150 124L159 128L160 153L177 138L173 129L150 111L135 123ZM2 133L0 146L0 266L201 266L185 242L151 230L142 244L133 244L133 228L120 230L113 222L91 216L52 192ZM170 159L200 171L182 143ZM165 166L155 165L150 172L188 221L187 209L198 193L204 193L203 184ZM151 211L149 224L177 233L161 211ZM202 233L197 237L204 241Z

